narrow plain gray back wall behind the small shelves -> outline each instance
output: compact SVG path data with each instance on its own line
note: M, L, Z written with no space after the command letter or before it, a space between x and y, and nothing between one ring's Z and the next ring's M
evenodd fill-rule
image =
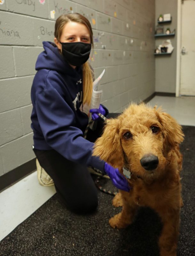
M177 28L177 0L155 0L155 27L160 14L170 13L172 22L164 24L164 32L166 28L170 28L171 32ZM177 31L176 31L177 33ZM174 47L171 55L155 56L155 91L171 92L176 90L176 52L177 40L175 36L158 37L155 39L155 45L158 46L162 41L170 39Z

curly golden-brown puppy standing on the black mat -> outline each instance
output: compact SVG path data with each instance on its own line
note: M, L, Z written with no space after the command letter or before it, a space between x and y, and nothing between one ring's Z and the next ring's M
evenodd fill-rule
M109 220L111 227L125 228L139 206L151 207L163 223L160 256L176 255L183 204L179 175L183 137L181 126L160 108L131 104L109 120L93 152L125 174L132 188L114 197L113 205L122 206L122 212Z

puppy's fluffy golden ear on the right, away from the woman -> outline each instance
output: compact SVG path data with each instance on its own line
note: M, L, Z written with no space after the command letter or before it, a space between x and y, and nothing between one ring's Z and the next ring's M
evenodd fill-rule
M183 141L184 134L182 127L169 114L163 112L157 113L158 119L163 126L164 145L167 147L167 151L169 151Z

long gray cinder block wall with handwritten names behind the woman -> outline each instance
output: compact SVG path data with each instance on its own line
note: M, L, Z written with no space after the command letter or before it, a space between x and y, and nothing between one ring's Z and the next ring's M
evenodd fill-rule
M33 159L30 88L42 41L53 41L63 13L91 22L90 62L102 79L102 103L121 112L155 91L155 0L1 0L0 176Z

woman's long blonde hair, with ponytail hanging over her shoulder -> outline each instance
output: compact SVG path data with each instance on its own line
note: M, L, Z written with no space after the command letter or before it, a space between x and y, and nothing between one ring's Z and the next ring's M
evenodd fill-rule
M69 14L62 14L58 17L55 23L55 32L54 35L57 38L58 42L60 41L60 37L62 35L62 30L67 22L78 22L84 24L89 32L90 32L90 42L93 47L93 31L91 28L91 24L87 18L85 18L80 13L69 13ZM83 76L83 102L91 105L91 95L92 95L92 87L93 87L93 76L92 76L92 69L88 62L85 62L82 66L82 76Z

